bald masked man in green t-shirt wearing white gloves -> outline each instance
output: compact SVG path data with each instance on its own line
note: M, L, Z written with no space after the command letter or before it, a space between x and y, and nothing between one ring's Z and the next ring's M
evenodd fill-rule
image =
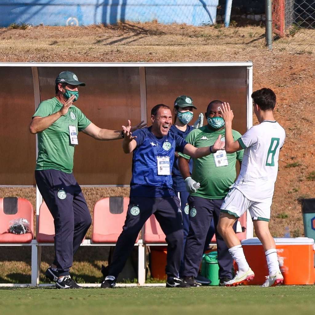
M212 146L215 140L224 141L225 127L220 106L222 102L214 100L207 107L205 116L208 124L199 129L192 130L186 137L186 141L195 147ZM235 130L232 131L234 140L241 137ZM219 221L220 209L229 187L236 178L236 160L242 161L243 151L226 154L224 150L217 151L207 157L193 159L192 175L189 173L188 162L190 157L179 153L179 168L185 178L186 189L190 192L189 204L189 232L184 251L183 272L184 281L192 286L198 286L195 281L206 235L212 218L215 223L215 236L218 248L219 278L220 285L232 279L232 256L227 246L217 232L216 226ZM236 231L236 223L233 228Z

